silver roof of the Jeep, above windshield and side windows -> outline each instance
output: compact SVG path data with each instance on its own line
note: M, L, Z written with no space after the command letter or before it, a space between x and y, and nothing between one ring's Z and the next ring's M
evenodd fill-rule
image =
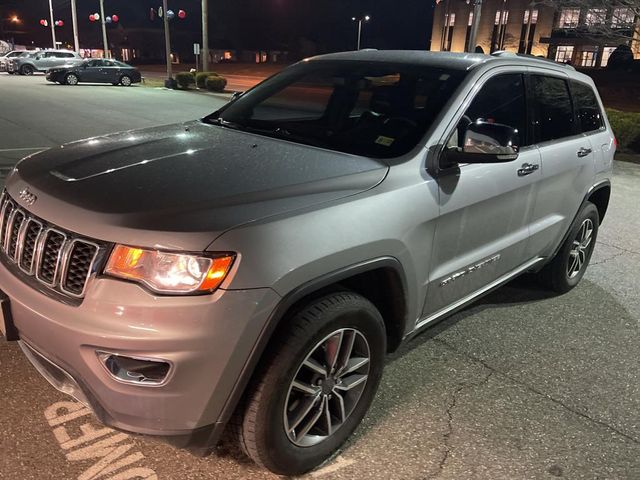
M312 57L308 61L352 60L370 62L407 63L452 70L472 70L480 65L518 64L541 66L558 71L574 71L573 67L556 63L546 58L530 55L517 55L509 52L496 52L491 55L482 53L428 52L423 50L360 50L353 52L330 53Z

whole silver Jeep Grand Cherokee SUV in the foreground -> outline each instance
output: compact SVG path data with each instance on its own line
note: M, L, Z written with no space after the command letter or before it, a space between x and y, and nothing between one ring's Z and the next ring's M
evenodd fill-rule
M585 273L615 138L589 77L513 54L332 54L181 125L21 161L3 330L105 424L317 466L385 353L524 272Z

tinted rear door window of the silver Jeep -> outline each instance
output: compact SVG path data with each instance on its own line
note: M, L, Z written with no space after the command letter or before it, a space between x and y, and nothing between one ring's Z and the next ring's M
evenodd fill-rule
M531 77L534 93L536 142L575 135L573 107L567 82L561 78Z

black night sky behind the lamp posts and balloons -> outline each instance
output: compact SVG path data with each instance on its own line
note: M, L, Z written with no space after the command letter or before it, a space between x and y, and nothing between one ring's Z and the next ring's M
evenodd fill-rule
M124 28L160 29L160 20L149 20L149 10L161 3L105 0L105 13L117 14ZM65 43L72 43L70 4L53 0L55 19L65 22L57 29L58 40ZM99 11L98 0L77 0L77 4L81 44L98 46L99 24L88 20L89 14ZM319 52L348 50L355 47L356 38L351 17L368 14L372 20L364 28L363 47L427 49L434 4L434 0L210 0L210 43L221 48L284 49L311 41ZM169 8L187 12L185 20L172 21L172 29L198 34L200 0L169 0ZM23 20L18 28L6 21L13 14ZM5 31L26 32L13 35L16 43L50 46L50 29L38 23L49 18L47 0L0 0L0 15Z

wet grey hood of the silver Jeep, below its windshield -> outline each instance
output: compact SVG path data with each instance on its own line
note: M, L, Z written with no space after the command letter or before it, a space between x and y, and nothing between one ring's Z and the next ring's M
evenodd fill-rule
M202 122L73 142L22 160L9 194L87 237L202 251L236 226L354 195L378 161ZM20 200L28 188L32 205Z

